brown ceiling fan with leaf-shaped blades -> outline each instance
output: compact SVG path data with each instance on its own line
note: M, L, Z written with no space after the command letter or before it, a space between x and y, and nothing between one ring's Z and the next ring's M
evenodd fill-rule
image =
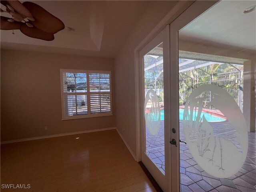
M1 16L1 30L19 29L26 36L46 41L54 40L54 34L65 28L64 23L33 2L1 0L10 18Z

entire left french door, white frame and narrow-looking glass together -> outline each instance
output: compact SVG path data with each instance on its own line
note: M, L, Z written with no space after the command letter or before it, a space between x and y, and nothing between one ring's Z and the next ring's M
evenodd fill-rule
M139 53L141 161L164 191L171 187L168 35L169 26Z

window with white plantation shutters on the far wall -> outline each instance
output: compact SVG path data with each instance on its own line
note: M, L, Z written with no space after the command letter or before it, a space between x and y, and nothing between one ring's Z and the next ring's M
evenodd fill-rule
M110 71L60 70L62 119L112 115Z

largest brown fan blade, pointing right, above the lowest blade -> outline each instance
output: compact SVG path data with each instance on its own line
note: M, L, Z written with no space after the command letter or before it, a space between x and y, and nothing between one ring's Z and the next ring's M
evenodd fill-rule
M22 5L24 5L33 15L35 21L31 21L31 23L36 28L52 34L55 34L65 28L64 23L60 19L50 14L38 4L32 2L24 2Z

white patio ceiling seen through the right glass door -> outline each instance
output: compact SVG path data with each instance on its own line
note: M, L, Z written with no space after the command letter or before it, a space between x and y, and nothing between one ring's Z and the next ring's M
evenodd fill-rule
M181 40L222 46L237 51L256 45L256 10L243 11L256 1L222 0L179 32ZM246 50L256 51L256 46Z

